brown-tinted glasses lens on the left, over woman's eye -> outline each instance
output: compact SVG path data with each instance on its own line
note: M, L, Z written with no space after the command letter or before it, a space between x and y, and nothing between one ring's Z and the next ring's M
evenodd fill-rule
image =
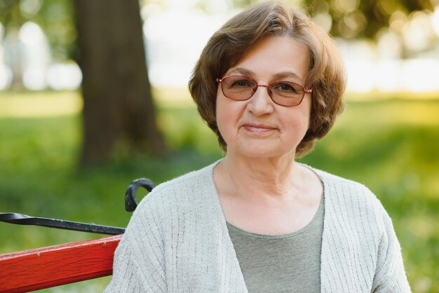
M227 76L221 82L222 93L232 100L248 100L255 92L257 83L245 76Z

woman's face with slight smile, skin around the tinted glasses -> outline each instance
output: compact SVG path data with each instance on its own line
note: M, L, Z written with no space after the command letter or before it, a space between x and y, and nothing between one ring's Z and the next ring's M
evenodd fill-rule
M257 43L225 75L248 76L258 85L291 81L304 86L308 67L309 54L302 43L271 36ZM294 158L309 127L311 94L306 93L298 106L285 107L274 103L266 89L259 86L249 100L235 101L218 86L217 125L228 155Z

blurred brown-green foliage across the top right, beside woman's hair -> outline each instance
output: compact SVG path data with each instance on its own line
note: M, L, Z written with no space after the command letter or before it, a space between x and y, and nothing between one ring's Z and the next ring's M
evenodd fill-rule
M234 0L237 8L264 0ZM198 1L204 3L203 0ZM436 0L283 0L289 6L304 8L313 21L331 36L367 39L384 45L393 56L415 57L435 50L438 34L433 28ZM434 12L435 13L435 12ZM382 49L382 48L381 48Z

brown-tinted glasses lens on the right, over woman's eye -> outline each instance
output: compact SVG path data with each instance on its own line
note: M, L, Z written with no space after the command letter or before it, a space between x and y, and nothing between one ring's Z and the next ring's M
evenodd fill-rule
M283 106L297 106L302 102L305 95L305 90L302 86L288 81L271 83L270 90L273 102Z

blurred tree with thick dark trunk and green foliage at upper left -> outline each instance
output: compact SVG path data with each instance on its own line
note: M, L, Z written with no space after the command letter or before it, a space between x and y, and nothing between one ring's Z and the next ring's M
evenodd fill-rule
M14 34L18 39L20 27L29 21L48 37L53 62L79 60L84 97L82 163L105 161L121 149L165 149L155 122L137 0L0 0L4 36ZM15 88L22 88L20 63L14 62Z

